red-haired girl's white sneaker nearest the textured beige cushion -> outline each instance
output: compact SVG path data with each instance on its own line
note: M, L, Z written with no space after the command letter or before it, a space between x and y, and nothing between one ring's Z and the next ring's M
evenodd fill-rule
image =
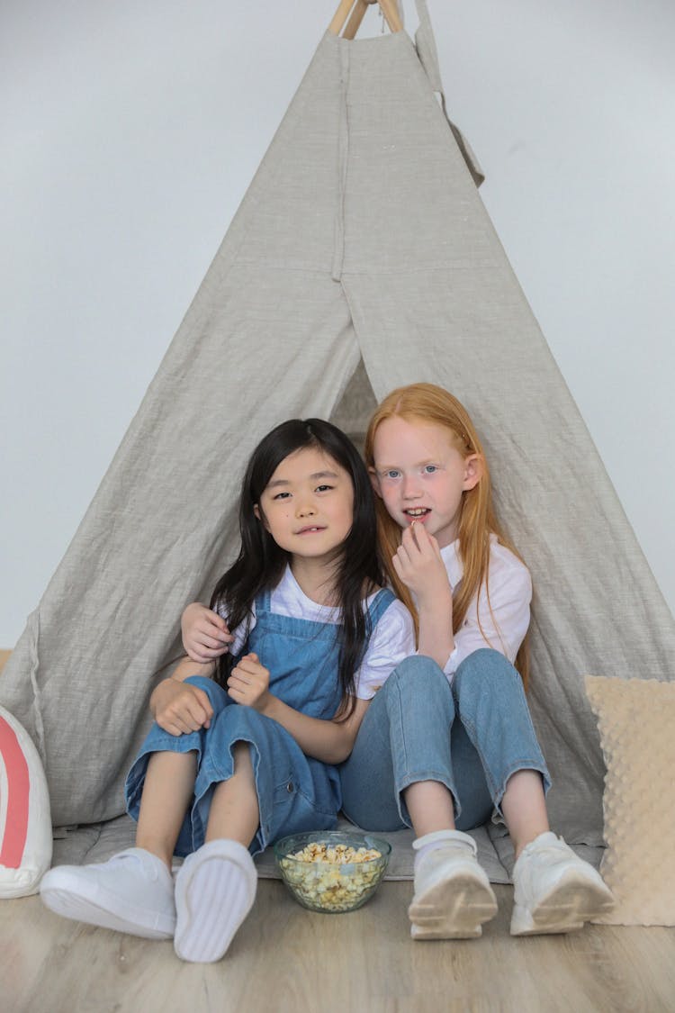
M513 886L512 936L572 932L614 904L600 873L551 831L523 848Z

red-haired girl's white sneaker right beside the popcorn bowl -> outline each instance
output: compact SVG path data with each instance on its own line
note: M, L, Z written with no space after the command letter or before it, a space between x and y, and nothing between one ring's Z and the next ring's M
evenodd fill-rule
M431 850L415 863L415 895L408 909L413 939L471 939L497 914L497 901L476 857L473 837L437 831L413 842Z

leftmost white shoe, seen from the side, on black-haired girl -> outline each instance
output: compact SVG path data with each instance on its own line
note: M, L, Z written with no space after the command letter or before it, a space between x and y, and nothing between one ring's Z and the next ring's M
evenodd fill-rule
M129 848L93 865L57 865L43 876L39 894L64 918L146 939L173 936L171 873L161 858L143 848Z

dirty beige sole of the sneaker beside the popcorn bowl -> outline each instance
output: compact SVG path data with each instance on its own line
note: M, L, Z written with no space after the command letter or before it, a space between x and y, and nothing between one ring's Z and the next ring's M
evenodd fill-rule
M497 914L490 885L472 873L459 873L430 887L413 901L408 917L413 939L475 939L483 923Z

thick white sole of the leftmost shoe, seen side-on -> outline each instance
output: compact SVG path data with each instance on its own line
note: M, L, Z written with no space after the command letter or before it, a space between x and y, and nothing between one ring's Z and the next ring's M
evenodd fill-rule
M144 939L172 939L175 918L156 912L149 913L133 905L125 905L125 915L115 912L119 898L107 890L96 887L91 882L84 883L79 876L69 875L63 869L59 886L40 885L39 895L50 911L76 922L86 922L102 929L125 932Z

